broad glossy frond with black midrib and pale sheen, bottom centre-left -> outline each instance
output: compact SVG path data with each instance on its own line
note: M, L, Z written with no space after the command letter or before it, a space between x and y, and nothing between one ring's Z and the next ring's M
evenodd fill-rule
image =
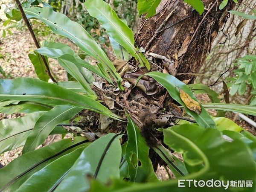
M122 153L119 138L118 134L110 133L85 148L55 192L73 191L74 186L76 192L88 191L87 175L103 183L107 183L110 177L118 178Z

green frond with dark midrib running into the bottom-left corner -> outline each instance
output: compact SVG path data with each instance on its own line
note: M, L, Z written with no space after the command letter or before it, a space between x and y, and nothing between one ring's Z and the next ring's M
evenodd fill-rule
M88 143L85 142L87 140L84 137L75 137L73 141L64 139L23 154L0 169L0 191L3 188L5 191L16 191L35 172L59 157L76 150L76 148L87 146Z

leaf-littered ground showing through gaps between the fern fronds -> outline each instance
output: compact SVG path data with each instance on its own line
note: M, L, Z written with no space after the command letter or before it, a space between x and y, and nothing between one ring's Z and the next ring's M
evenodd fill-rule
M0 10L0 18L3 18L3 12ZM32 38L27 30L23 30L20 32L16 29L11 29L12 35L7 35L5 38L2 38L3 31L3 22L0 22L0 67L3 68L4 72L10 79L14 79L16 77L32 77L35 78L35 70L33 65L31 64L28 54L35 49L35 44L32 41ZM45 37L48 38L49 37ZM39 38L39 40L43 41L44 38ZM62 42L69 44L70 47L76 49L76 47L72 44L72 42L68 41L64 38L55 38L55 41ZM2 57L1 57L2 55ZM55 60L49 59L50 68L52 73L55 75L59 81L67 80L66 73L62 67L60 67ZM0 79L4 79L4 77L0 74ZM198 99L201 102L209 102L209 98L205 94L197 95ZM213 111L212 113L214 113ZM14 113L12 115L7 115L0 113L0 120L1 119L9 119L9 118L19 118L24 114L21 113ZM228 117L230 119L234 118L234 114L228 113ZM254 120L256 120L254 118ZM235 122L238 123L241 127L245 128L246 130L250 131L254 135L256 135L255 128L249 125L248 123L244 122L243 120L236 118ZM45 143L40 147L47 145L49 143L58 141L61 139L60 135L56 136L49 136ZM8 151L0 155L0 163L3 165L8 164L15 158L21 155L22 147L17 148L13 151ZM168 175L163 167L157 170L157 176L165 180Z

